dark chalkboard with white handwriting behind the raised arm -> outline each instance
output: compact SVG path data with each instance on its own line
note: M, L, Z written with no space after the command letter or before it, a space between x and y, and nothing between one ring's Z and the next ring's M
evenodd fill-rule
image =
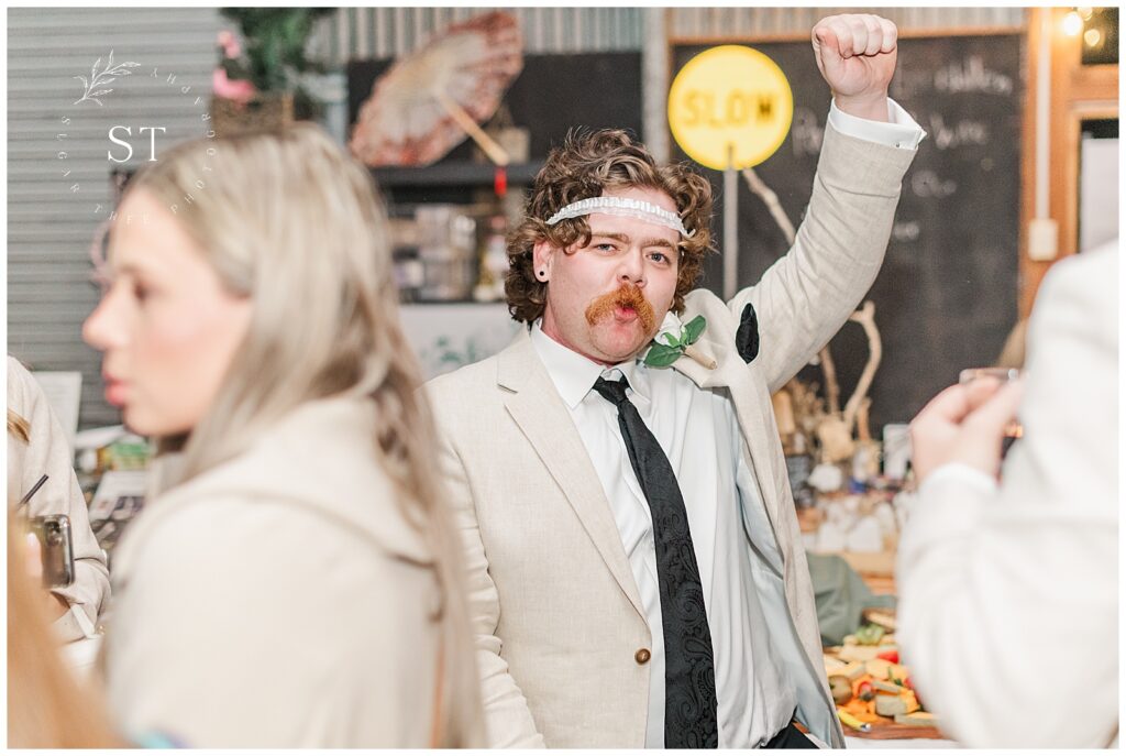
M771 57L794 92L789 135L756 170L797 225L812 193L829 87L807 39L745 44ZM676 46L673 72L703 50ZM904 178L887 257L867 296L884 345L868 394L874 433L910 420L957 381L960 368L991 364L1017 320L1024 63L1016 33L900 39L891 96L928 137ZM688 159L677 146L673 152ZM713 233L722 241L723 176L704 172L716 189ZM738 201L739 285L747 286L788 244L742 178ZM704 285L718 293L718 258L705 276ZM864 367L866 345L855 323L830 343L842 404ZM823 382L816 367L799 375Z

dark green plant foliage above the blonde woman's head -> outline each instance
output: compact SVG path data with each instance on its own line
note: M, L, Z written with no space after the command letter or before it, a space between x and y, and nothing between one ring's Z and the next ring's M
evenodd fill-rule
M225 18L239 25L245 45L243 55L222 60L227 78L249 80L260 92L292 92L296 117L313 117L318 104L301 86L301 74L320 73L324 68L305 56L305 44L313 24L336 10L221 8Z

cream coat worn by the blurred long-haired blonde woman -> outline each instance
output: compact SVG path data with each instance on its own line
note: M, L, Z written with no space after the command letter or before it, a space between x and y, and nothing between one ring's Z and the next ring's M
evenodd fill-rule
M369 402L303 406L152 501L114 557L123 733L227 747L429 745L439 601Z

